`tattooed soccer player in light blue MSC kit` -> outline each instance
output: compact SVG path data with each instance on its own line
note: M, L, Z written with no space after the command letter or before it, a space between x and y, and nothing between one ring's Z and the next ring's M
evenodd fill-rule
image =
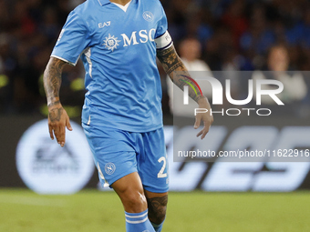
M66 64L81 57L88 90L82 126L103 186L112 187L125 209L128 232L161 231L168 201L168 164L162 129L160 76L156 56L181 88L191 82L167 31L159 0L88 0L67 17L44 74L48 126L60 146L66 126L59 88ZM189 88L201 108L208 100ZM197 136L206 136L212 116Z

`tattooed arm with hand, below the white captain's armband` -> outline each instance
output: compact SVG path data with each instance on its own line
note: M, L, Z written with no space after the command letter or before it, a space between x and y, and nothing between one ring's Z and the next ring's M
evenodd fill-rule
M208 112L210 112L211 106L208 99L205 96L202 96L199 87L192 82L191 76L186 67L183 65L181 58L177 54L174 46L172 45L168 49L158 51L157 57L159 58L160 63L168 76L170 76L172 82L176 86L180 87L181 90L183 90L183 86L187 85L186 82L191 83L191 85L194 86L196 92L189 88L189 96L191 96L191 98L198 103L200 108L206 108L208 109ZM203 139L207 135L210 126L212 125L213 116L210 116L210 114L197 114L194 128L197 129L201 125L202 121L204 127L202 131L197 134L197 136L202 136Z

